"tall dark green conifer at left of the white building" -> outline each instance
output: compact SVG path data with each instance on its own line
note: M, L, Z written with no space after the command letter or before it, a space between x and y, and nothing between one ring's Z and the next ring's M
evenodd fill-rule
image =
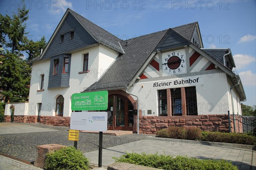
M39 42L33 42L26 37L26 23L29 10L25 6L19 7L12 17L0 14L0 90L5 102L27 101L31 66L28 65L24 52L28 53L27 59L40 55L41 48L46 45L45 37Z

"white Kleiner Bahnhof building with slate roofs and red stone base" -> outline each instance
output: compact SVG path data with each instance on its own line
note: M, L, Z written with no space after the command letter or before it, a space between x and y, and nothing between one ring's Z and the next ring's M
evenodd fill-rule
M241 114L246 99L230 49L203 48L197 22L123 41L67 9L31 63L29 103L17 122L69 126L72 94L107 90L112 130L137 131L139 105L141 133L227 131L227 111Z

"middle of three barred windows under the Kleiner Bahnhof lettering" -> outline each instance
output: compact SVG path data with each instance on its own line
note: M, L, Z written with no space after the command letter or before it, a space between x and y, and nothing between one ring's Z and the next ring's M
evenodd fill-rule
M171 89L172 116L182 116L181 89Z

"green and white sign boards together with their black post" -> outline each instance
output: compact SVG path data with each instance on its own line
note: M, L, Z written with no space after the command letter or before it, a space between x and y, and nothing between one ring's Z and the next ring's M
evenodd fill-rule
M71 97L72 111L104 111L108 109L108 91L76 93ZM107 130L107 112L71 113L70 129L99 131L99 167L102 167L102 132ZM74 146L77 142L74 143ZM77 147L77 146L76 146Z

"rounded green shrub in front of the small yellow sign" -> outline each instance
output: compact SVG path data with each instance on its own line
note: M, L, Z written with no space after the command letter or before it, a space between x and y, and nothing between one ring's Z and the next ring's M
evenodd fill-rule
M46 170L87 170L89 160L75 147L63 147L47 153Z

